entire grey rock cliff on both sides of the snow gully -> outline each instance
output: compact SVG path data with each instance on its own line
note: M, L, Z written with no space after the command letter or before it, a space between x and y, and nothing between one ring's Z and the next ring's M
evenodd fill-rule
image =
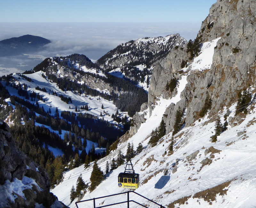
M203 21L197 36L202 40L202 44L217 41L211 65L196 69L191 64L193 60L188 63L186 44L184 48L172 50L164 59L154 64L148 92L150 111L154 108L154 100L157 97L168 99L177 93L175 90L172 93L165 90L168 81L174 77L181 79L181 76L187 76L187 84L180 94L180 101L176 105L172 103L163 117L167 132L173 129L175 113L179 107L186 110L185 124L189 126L200 118L198 114L204 106L207 94L212 99L209 115L214 117L225 106L229 107L237 101L238 92L249 86L255 88L255 14L255 1L218 0L212 5L210 14ZM188 66L181 69L182 60L187 60ZM140 120L137 118L137 121Z

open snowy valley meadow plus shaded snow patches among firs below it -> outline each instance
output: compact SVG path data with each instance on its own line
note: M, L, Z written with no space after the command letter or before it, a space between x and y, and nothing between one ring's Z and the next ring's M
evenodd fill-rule
M43 76L42 76L43 75ZM41 97L42 99L34 99L29 100L29 102L32 105L36 106L36 103L38 103L38 106L40 108L43 108L44 111L48 112L51 116L54 116L56 114L56 110L58 109L59 115L62 115L62 112L71 112L75 114L88 114L92 115L98 119L102 119L105 121L108 121L110 124L113 124L113 128L120 128L122 131L122 126L118 124L118 122L114 121L111 117L112 114L116 114L116 106L113 104L113 101L109 101L106 99L103 99L100 96L91 96L91 95L85 95L83 94L77 94L73 91L63 91L61 90L56 83L52 82L48 79L48 77L45 75L45 72L38 71L33 74L26 74L26 76L22 77L18 74L13 74L13 79L16 80L15 84L18 86L26 86L26 91L28 94L36 93L37 96ZM44 91L37 89L39 87L41 89L44 89ZM14 89L11 85L6 86L6 89L9 91L9 93L12 96L20 97L21 99L24 99L23 96L19 95L19 91ZM53 92L55 94L53 94ZM68 102L61 100L61 97L70 98ZM6 99L7 103L11 106L12 102L11 99ZM27 100L28 101L28 100ZM82 106L88 106L87 109L82 109ZM103 108L102 108L103 106ZM15 106L13 106L15 108ZM118 117L129 117L127 112L122 112L119 110ZM38 113L36 113L37 116L39 116ZM9 121L9 124L12 125L12 121ZM36 125L42 125L40 123L36 123ZM52 129L51 126L44 125L45 127L49 128L52 132L55 132L59 134L58 130ZM64 133L68 132L62 129L62 134L59 136L64 139ZM98 144L94 143L94 146L97 147ZM86 147L87 152L91 150L92 148L92 142L88 140L88 146ZM61 153L61 151L58 151L58 148L49 148L53 152L56 152L55 155L58 155L58 153ZM103 150L101 150L103 151ZM97 151L98 153L98 151Z

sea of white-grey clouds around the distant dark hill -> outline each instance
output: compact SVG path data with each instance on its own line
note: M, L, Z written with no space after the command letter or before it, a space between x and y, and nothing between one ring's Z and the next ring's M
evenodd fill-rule
M98 60L121 43L142 37L179 33L186 40L195 39L201 22L196 23L0 23L0 40L23 35L51 40L44 50L31 54L0 57L0 76L30 70L47 57L73 53Z

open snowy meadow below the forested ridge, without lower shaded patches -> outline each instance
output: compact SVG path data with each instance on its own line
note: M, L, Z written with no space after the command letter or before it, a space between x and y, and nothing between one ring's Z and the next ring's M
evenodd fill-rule
M43 100L38 100L39 106L43 106L45 110L49 110L49 108L52 108L51 115L55 114L55 108L58 108L59 113L61 114L62 111L71 111L76 112L75 108L78 107L79 112L81 113L88 113L93 116L99 116L100 118L104 118L105 120L108 120L109 122L114 122L113 118L109 116L108 114L104 114L101 106L105 106L107 109L106 112L110 115L113 113L116 113L116 106L113 104L113 101L109 101L103 98L99 99L99 96L91 96L91 95L85 95L85 94L76 94L72 91L63 91L61 90L56 83L51 82L51 80L48 79L47 76L45 78L42 76L42 74L45 76L45 72L38 71L33 74L26 74L25 76L29 77L32 82L29 82L26 78L22 78L18 74L13 74L12 76L17 80L17 85L20 83L20 85L26 84L27 85L27 92L32 93L36 92L36 94L39 93L40 96L43 97ZM36 87L40 86L40 88L46 89L46 92L43 92L41 90L36 90ZM19 96L17 90L13 89L11 86L6 87L8 91L12 95ZM51 92L49 94L49 92ZM56 92L58 96L52 95L52 92ZM72 103L64 102L60 99L60 95L64 97L70 97L72 100ZM36 103L36 101L33 101L32 103ZM88 105L89 110L83 110L81 109L81 106ZM52 106L52 107L51 107ZM69 108L70 106L70 108ZM103 115L100 116L100 113ZM120 111L120 116L124 116L124 112ZM127 113L126 113L127 114Z

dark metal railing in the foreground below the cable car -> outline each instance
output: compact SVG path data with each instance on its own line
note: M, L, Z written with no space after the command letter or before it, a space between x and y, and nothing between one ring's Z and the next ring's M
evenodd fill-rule
M142 206L142 207L148 208L147 206L145 206L145 205L143 205L143 204L140 204L139 202L136 202L136 201L134 201L134 200L130 200L130 198L129 198L129 197L130 197L130 196L129 196L129 193L137 194L137 195L139 195L140 197L143 197L144 199L147 199L148 201L150 201L150 202L152 202L152 203L158 205L160 208L165 208L162 204L158 204L158 203L152 201L151 199L148 199L147 197L142 196L142 195L140 195L140 194L138 194L138 193L136 193L136 192L134 192L134 191L127 191L127 192L123 192L123 193L112 194L112 195L108 195L108 196L101 196L101 197L97 197L97 198L93 198L93 199L87 199L87 200L79 201L79 202L76 202L76 207L78 208L78 205L77 205L78 203L93 201L93 208L102 208L102 207L108 207L108 206L113 206L113 205L116 205L116 204L125 204L125 203L127 204L127 208L129 208L129 207L130 207L130 202L133 202L133 203L139 204L139 205ZM98 207L96 207L96 205L95 205L95 204L96 204L95 200L97 200L97 199L106 198L106 197L110 197L110 196L117 196L117 195L120 195L120 194L127 194L127 201L117 202L117 203L108 204L108 205L103 205L103 206L98 206Z

